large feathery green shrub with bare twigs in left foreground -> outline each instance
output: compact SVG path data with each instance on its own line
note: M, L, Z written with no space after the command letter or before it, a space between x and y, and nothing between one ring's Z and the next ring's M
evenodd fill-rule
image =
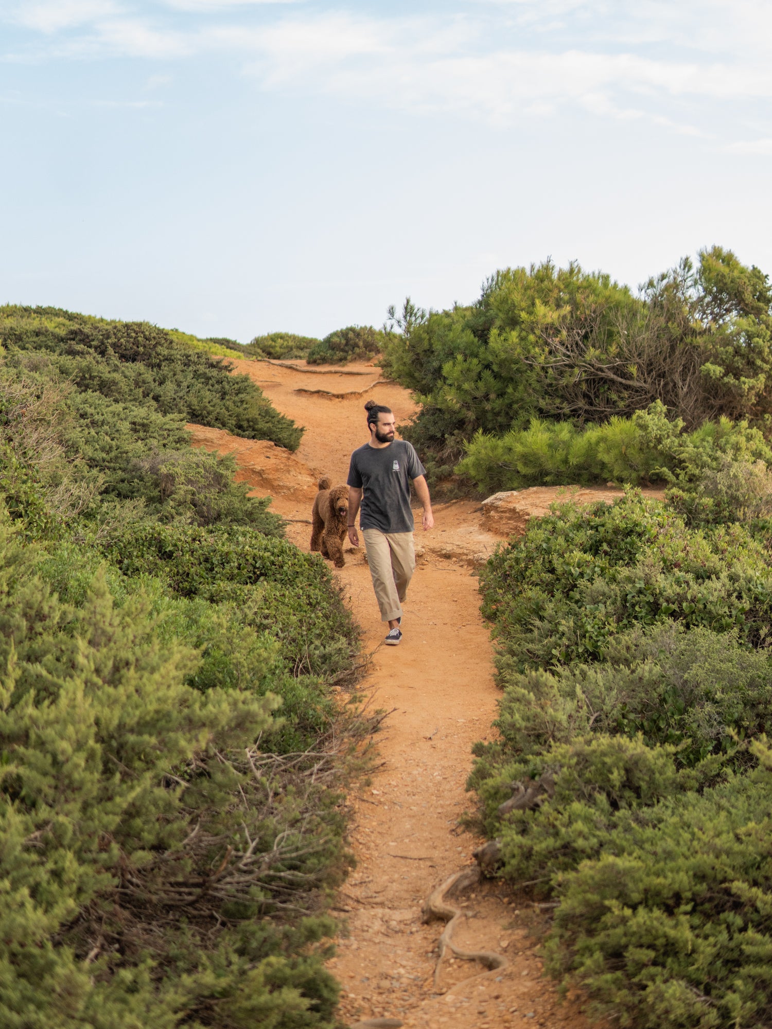
M116 606L98 574L65 604L35 560L0 527L0 1021L331 1029L331 922L265 917L345 867L317 756L255 776L270 695L192 688L200 653L141 594Z

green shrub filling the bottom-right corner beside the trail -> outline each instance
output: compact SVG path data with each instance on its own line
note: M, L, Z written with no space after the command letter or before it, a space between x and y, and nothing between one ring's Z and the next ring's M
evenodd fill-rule
M761 1029L772 1020L772 775L666 799L562 875L550 967L623 1026Z

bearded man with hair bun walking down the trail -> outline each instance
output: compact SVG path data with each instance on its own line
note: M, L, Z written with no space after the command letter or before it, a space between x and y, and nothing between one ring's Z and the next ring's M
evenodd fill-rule
M413 445L394 439L394 415L375 400L364 404L367 412L370 441L351 455L349 468L349 540L359 545L356 512L359 521L370 574L376 591L381 620L388 622L388 646L401 638L401 602L416 566L413 547L413 511L410 507L410 484L423 504L423 527L434 525L431 513L426 469L418 460Z

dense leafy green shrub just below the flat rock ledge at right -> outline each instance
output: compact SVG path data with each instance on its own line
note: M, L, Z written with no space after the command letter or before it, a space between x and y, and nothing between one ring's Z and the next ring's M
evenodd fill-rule
M660 622L759 645L772 615L768 552L747 530L691 530L635 493L534 520L481 580L501 667L519 671L600 660L620 631Z

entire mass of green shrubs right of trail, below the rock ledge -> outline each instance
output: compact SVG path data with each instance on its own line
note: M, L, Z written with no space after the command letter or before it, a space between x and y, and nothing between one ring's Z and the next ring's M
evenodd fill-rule
M469 785L498 874L556 903L549 969L598 1014L635 1029L761 1029L769 473L725 455L697 482L675 503L631 491L566 505L490 560L499 739L477 746Z

